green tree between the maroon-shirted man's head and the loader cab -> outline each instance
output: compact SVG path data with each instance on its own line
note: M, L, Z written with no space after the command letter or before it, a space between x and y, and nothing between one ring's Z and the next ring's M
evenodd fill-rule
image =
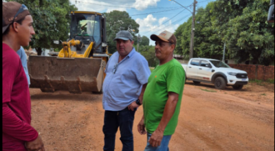
M8 0L14 1L14 0ZM69 12L77 10L69 0L16 0L24 3L34 20L34 39L30 47L35 48L41 55L42 48L60 48L52 40L67 40L71 19Z

